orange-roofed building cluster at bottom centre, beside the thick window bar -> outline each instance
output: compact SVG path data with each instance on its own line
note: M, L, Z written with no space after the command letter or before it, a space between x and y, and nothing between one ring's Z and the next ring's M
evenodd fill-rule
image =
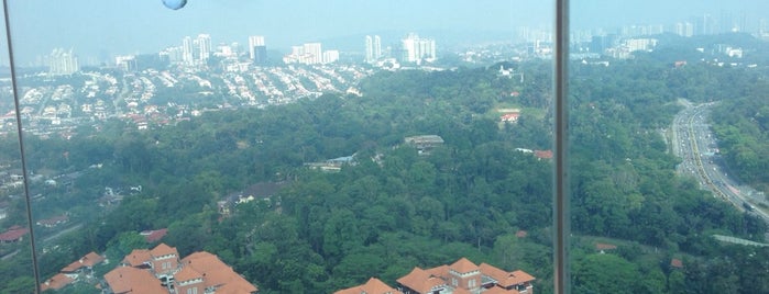
M334 294L534 294L535 278L516 270L507 272L466 258L431 269L414 268L391 287L376 278Z

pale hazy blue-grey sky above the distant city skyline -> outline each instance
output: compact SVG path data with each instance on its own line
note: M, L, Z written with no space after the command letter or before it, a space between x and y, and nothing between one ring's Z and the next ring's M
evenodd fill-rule
M176 11L162 0L10 2L14 50L22 64L54 47L72 47L80 56L155 53L199 33L210 34L213 44L244 44L249 35L264 35L267 46L288 47L381 31L514 32L523 25L551 27L553 22L552 4L545 0L188 0ZM769 1L572 1L572 27L670 24L721 11L745 12L757 22L757 13L769 19Z

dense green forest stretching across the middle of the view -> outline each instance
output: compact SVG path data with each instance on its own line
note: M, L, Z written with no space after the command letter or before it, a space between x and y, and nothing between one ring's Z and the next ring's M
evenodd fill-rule
M575 293L766 293L769 264L761 261L769 250L712 238L762 241L766 224L677 176L679 160L660 132L680 110L680 98L740 104L766 82L745 69L674 68L651 57L572 67ZM383 71L360 84L362 97L208 112L152 132L112 122L84 127L66 142L30 138L35 169L88 170L70 190L48 191L48 204L92 203L103 186L144 188L112 211L83 208L75 217L84 227L42 255L44 278L91 250L120 259L150 246L136 231L167 227L163 241L182 256L216 253L263 293L329 293L369 276L394 284L413 267L460 257L521 269L537 278L537 292L549 293L552 165L517 148L551 148L551 65L507 66L527 72L525 82L499 77L498 65ZM521 116L499 123L497 108L519 108ZM760 113L748 121L763 127L756 132L766 142ZM403 144L422 134L444 144L429 154ZM749 148L766 152L766 144L755 144ZM334 173L304 166L353 154L356 163ZM736 167L766 170L763 162ZM103 166L89 169L94 163ZM270 201L220 215L217 201L265 181L287 184ZM525 238L516 236L520 230ZM618 248L602 253L596 241ZM670 267L672 258L684 267ZM25 274L17 270L21 263L1 264L0 284L30 285L19 276Z

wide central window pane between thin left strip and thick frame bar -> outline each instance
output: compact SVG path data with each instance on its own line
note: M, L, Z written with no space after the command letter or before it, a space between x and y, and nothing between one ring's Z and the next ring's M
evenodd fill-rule
M552 291L551 4L172 2L10 3L43 287Z

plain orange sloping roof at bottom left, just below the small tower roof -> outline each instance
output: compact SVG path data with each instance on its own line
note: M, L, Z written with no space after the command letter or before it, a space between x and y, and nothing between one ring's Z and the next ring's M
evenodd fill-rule
M120 293L168 293L161 285L161 280L157 280L149 271L140 270L131 267L119 267L107 274L105 280L109 284L112 292Z

